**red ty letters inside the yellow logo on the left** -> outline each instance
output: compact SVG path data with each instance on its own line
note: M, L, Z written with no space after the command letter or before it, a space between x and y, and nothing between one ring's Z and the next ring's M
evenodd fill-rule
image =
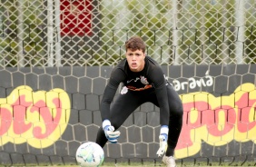
M62 115L62 103L60 99L54 98L53 103L55 105L54 109L49 109L46 106L44 101L38 101L34 103L25 102L25 95L21 95L12 104L14 115L12 115L11 111L6 110L5 108L0 108L1 112L1 126L0 126L0 135L7 133L11 124L14 124L14 133L22 134L27 132L32 128L32 123L25 123L27 112L38 112L39 115L43 118L43 123L45 125L45 133L43 133L42 127L35 126L34 127L34 138L44 139L54 132L56 127L59 125ZM31 106L31 109L28 108ZM54 116L55 115L55 116ZM41 124L42 125L42 124Z

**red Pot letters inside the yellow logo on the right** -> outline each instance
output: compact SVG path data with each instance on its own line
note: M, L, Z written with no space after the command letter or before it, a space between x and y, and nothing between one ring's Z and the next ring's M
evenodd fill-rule
M231 131L236 131L235 128L239 133L248 133L255 128L256 121L255 119L250 120L250 118L256 113L256 99L250 99L249 97L249 93L242 93L240 98L234 102L236 107L224 104L230 103L227 101L212 108L213 103L207 103L207 99L206 102L192 99L192 102L183 103L182 132L176 150L194 146L194 133L197 137L202 134L198 138L207 140L205 136L209 134L218 139L228 135Z

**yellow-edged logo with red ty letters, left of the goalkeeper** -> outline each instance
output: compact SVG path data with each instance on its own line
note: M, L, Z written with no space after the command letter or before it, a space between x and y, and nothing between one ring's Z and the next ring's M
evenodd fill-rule
M48 147L64 133L69 117L70 100L64 90L34 93L29 86L18 86L6 99L0 98L0 145L27 142L34 148Z

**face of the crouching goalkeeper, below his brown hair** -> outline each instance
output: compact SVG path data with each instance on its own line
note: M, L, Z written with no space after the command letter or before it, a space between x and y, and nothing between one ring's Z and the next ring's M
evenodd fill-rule
M126 59L132 72L140 72L143 70L145 54L142 50L132 51L131 49L127 49Z

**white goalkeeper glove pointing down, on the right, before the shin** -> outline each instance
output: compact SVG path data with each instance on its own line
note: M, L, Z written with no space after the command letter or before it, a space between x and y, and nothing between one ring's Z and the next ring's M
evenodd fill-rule
M160 157L166 151L167 139L168 139L169 128L167 125L162 125L159 135L160 146L156 154Z

